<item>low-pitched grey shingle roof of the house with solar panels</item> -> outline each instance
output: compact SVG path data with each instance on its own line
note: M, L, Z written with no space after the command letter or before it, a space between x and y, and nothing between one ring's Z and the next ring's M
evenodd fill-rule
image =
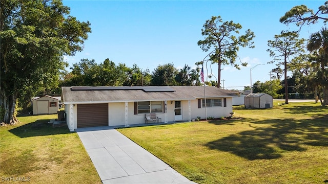
M62 87L63 101L69 103L109 103L204 98L203 86L73 86ZM206 98L238 97L225 90L206 86Z

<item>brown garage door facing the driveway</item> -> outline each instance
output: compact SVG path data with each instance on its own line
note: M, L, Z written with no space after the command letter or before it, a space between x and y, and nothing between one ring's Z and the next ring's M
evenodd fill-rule
M108 126L108 104L77 104L77 128Z

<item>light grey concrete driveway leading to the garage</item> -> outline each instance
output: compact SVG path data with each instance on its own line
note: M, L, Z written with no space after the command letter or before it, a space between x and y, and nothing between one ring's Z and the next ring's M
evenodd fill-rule
M77 134L103 183L195 183L111 127Z

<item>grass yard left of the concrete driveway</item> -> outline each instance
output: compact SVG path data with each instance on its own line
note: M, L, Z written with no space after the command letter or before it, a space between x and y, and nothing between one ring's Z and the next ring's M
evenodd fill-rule
M22 123L0 127L1 183L101 183L77 133L47 123L56 118L18 117Z

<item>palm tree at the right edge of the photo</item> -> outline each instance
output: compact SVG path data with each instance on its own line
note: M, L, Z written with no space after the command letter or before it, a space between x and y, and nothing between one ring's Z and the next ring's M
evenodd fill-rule
M322 105L328 105L328 29L322 28L311 34L307 49L313 53L315 58L313 64L318 68L317 78L320 80L323 90Z

